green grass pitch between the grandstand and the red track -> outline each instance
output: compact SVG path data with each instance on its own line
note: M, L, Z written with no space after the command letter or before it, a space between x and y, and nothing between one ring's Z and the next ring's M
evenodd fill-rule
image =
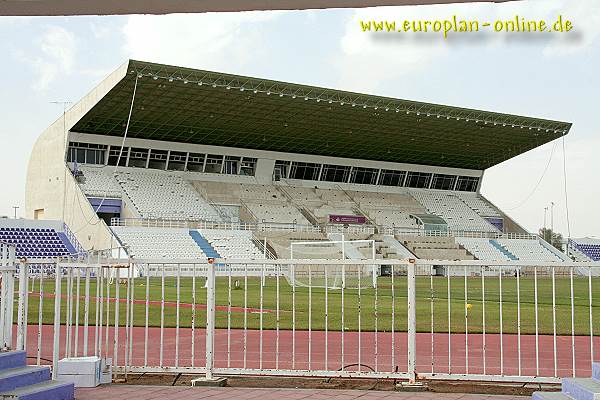
M238 278L240 288L231 290L232 307L244 307L244 279ZM206 290L203 288L204 279L196 280L196 299L197 304L206 304ZM135 298L145 300L146 298L146 279L138 278L135 281ZM63 293L66 293L66 280L62 282ZM227 278L217 278L217 306L228 304L228 285ZM465 302L465 280L462 277L450 279L450 329L452 332L465 332L465 303L471 304L468 311L468 332L482 332L483 319L483 297L481 278L467 278L467 301ZM33 292L29 298L29 323L38 322L39 281L35 282ZM84 282L81 281L80 296L80 323L83 323L83 295ZM110 287L110 297L115 297L115 284ZM120 298L125 298L127 293L126 284L120 285ZM279 326L280 329L292 328L292 290L286 279L279 279ZM590 307L588 297L588 280L585 277L575 277L573 280L574 290L574 325L575 334L590 334ZM106 296L106 286L104 287ZM267 278L266 286L263 287L263 308L269 312L263 313L263 328L275 329L277 325L276 318L276 291L277 284L275 278ZM594 304L592 307L593 321L595 325L594 335L600 334L600 279L594 278L592 282L592 298ZM44 281L44 292L46 294L54 293L54 281L52 279ZM177 290L176 279L165 278L165 301L176 302ZM394 330L406 331L407 326L407 280L405 277L396 277L394 280ZM73 293L76 293L74 288ZM571 295L570 280L568 277L556 278L556 319L557 333L571 334ZM90 284L90 295L95 296L95 280ZM375 320L377 316L377 329L379 331L390 331L392 328L392 284L389 277L380 277L378 279L377 295L372 288L361 289L360 297L357 289L347 289L344 292L344 328L345 330L355 331L359 328L359 310L360 310L360 329L364 331L375 330ZM341 291L328 290L328 329L341 330ZM485 321L486 332L494 333L500 330L500 302L499 302L499 279L498 277L488 277L485 279ZM310 296L310 315L311 328L314 330L323 330L325 328L325 290L312 289L309 294L308 288L296 288L296 329L308 329L309 325L309 296ZM161 300L161 280L160 278L150 279L150 300L160 302ZM377 300L377 312L375 312L375 300ZM192 303L192 279L181 278L180 302ZM66 315L66 299L61 302L62 320L64 322ZM105 303L106 305L106 303ZM532 334L535 332L535 307L534 307L534 282L533 278L521 277L520 279L520 310L521 310L521 333ZM125 323L125 303L120 303L120 324ZM260 307L260 280L258 278L248 278L247 307ZM433 327L435 332L448 332L448 280L444 277L433 277L432 287L429 277L417 277L417 330L420 332L431 331L432 310L433 307ZM110 320L114 322L115 303L111 303ZM95 321L96 302L90 301L90 323ZM517 332L517 280L513 277L502 278L502 319L503 332ZM43 301L43 323L51 324L54 321L54 299L44 298ZM73 316L75 315L75 306L73 306ZM190 306L180 308L180 326L191 326L192 308ZM248 312L248 328L259 328L260 313ZM104 318L106 318L106 307L104 308ZM244 327L243 310L234 310L231 312L231 327ZM160 304L151 304L149 306L149 325L160 326L161 307ZM202 308L196 310L196 326L203 327L206 321L206 312ZM145 304L135 304L134 324L144 326L145 324ZM176 307L165 306L164 324L168 327L176 325ZM218 328L226 328L228 325L227 310L217 311L216 324ZM549 277L538 278L538 324L540 334L551 334L553 332L553 313L552 313L552 280Z

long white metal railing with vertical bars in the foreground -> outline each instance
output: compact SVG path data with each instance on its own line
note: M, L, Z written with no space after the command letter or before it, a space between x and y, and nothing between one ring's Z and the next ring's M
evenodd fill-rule
M207 261L23 262L17 341L38 364L97 355L125 376L541 383L600 358L599 263Z

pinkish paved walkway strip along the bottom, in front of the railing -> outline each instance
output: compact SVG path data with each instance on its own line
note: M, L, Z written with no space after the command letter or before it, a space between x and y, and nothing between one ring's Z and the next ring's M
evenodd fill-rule
M464 393L410 393L334 389L206 388L188 386L109 385L77 389L76 400L527 400L530 397Z

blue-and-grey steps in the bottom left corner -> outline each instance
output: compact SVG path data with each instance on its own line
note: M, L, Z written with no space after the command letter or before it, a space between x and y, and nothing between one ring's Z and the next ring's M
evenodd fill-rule
M27 365L24 351L0 352L0 399L73 400L72 383L50 380L49 367Z

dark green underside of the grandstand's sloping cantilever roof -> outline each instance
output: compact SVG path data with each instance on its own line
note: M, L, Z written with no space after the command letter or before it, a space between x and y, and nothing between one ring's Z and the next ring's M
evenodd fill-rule
M128 137L486 169L566 135L570 123L169 65L128 70L71 129Z

